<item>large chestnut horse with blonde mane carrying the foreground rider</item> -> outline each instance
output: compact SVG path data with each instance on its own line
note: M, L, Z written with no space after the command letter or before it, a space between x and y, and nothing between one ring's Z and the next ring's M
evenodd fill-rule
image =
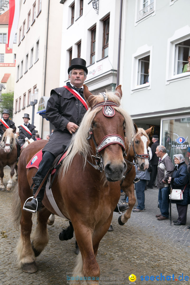
M68 155L52 184L52 193L61 213L71 220L80 249L73 272L81 272L81 276L91 276L91 284L99 284L100 268L96 255L120 197L119 180L126 171L123 158L124 135L128 136L129 144L130 138L134 136L134 126L128 113L120 107L120 85L116 92L96 96L84 85L84 96L89 109L71 139ZM103 105L111 105L107 106L108 112ZM108 117L110 110L113 116ZM36 168L26 169L26 165L45 143L43 140L36 141L21 153L18 191L16 187L13 199L15 222L20 221L21 224L21 236L17 245L18 262L23 271L29 273L37 271L36 256L48 243L48 217L51 213L56 214L45 193L42 201L44 208L38 211L38 223L31 244L32 213L22 210L19 215L19 209L32 196L30 185L36 172ZM96 166L93 165L94 156ZM96 280L92 280L92 277Z

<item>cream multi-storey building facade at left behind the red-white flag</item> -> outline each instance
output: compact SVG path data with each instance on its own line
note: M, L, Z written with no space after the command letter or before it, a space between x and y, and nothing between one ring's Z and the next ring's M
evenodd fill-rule
M41 138L51 131L44 110L59 86L62 11L57 0L20 1L13 121L18 127L28 113Z

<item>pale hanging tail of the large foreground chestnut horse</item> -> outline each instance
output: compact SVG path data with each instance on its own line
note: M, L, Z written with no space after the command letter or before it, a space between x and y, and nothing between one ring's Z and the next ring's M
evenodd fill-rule
M12 205L13 205L12 207L13 223L14 223L14 226L18 229L20 225L21 215L22 215L18 183L16 184L15 189L13 191Z

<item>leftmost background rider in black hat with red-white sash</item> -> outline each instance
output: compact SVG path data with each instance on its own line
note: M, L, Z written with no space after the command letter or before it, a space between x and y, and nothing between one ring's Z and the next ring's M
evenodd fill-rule
M15 123L9 119L9 115L10 115L9 109L3 109L2 115L3 115L3 118L0 119L0 138L3 137L4 131L6 129L11 128L13 130L14 129L16 130ZM4 130L3 130L3 128L4 128ZM16 145L17 145L17 159L18 159L20 156L21 147L20 147L17 139L16 139Z

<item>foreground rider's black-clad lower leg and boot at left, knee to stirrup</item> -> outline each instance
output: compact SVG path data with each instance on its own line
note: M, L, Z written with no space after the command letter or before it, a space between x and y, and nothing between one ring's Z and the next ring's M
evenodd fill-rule
M51 152L49 152L49 151L43 152L42 161L39 164L39 169L36 172L35 177L32 177L33 182L35 184L35 186L33 188L33 195L38 190L40 184L42 183L44 177L48 173L48 170L52 166L54 160L55 160L55 156ZM26 204L24 205L24 208L23 208L24 210L26 210L26 211L31 211L31 210L32 211L39 211L42 209L42 200L44 198L44 192L46 189L47 180L48 179L46 179L46 181L44 182L42 188L40 189L40 191L36 197L36 199L38 200L38 208L37 208L36 199L32 198L32 201L26 202Z

